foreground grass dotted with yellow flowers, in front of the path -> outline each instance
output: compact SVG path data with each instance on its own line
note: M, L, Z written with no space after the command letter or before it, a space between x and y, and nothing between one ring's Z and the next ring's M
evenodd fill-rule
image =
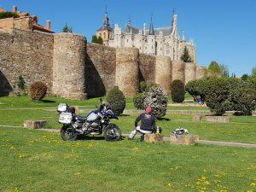
M127 140L65 143L54 133L0 130L0 191L255 189L250 186L256 183L253 148Z

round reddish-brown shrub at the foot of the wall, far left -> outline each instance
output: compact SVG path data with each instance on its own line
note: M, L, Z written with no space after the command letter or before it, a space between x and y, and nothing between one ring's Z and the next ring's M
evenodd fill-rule
M39 101L46 96L47 86L41 81L37 81L30 86L32 100Z

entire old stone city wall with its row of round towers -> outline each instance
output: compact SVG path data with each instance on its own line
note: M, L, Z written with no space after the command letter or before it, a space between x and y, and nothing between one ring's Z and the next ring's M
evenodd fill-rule
M114 85L125 96L134 96L143 80L161 84L170 94L173 80L200 79L203 69L168 56L140 54L137 48L87 44L73 33L0 30L2 94L13 90L19 75L27 86L40 80L49 94L70 99L103 96Z

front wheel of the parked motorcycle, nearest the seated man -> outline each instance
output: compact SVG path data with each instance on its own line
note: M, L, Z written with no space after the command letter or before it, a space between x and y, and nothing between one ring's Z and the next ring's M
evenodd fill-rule
M115 124L109 124L103 131L103 136L108 142L116 142L122 137L119 127Z

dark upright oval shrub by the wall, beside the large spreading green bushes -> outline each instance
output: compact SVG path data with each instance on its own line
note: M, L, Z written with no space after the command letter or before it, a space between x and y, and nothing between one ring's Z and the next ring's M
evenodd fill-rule
M172 82L172 101L183 102L185 98L185 88L181 80L174 80Z

